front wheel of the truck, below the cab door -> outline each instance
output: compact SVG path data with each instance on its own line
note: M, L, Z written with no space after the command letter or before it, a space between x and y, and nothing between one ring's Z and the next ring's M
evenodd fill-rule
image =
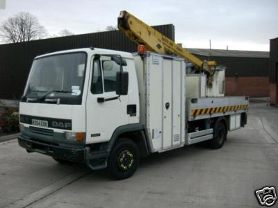
M108 157L108 173L118 180L131 177L138 168L139 160L138 146L131 139L119 139Z

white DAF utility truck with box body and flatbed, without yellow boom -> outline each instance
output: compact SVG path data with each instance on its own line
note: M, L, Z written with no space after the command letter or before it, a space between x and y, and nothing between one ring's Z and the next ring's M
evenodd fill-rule
M140 157L206 141L247 122L248 98L224 96L177 56L74 49L35 58L19 105L19 145L58 162L130 177ZM193 70L194 71L194 70ZM188 72L188 75L187 73Z

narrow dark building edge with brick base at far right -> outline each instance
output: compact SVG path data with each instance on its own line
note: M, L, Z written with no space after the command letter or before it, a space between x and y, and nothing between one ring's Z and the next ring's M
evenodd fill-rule
M278 105L278 37L270 40L270 104Z

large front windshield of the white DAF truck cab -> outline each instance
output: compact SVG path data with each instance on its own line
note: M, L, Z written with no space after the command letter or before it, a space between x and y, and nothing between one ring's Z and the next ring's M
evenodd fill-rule
M85 62L86 53L82 52L51 55L34 60L24 96L80 97Z

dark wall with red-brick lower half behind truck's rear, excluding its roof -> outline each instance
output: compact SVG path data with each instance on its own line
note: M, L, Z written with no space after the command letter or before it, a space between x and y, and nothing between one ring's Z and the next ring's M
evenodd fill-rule
M207 56L197 56L202 60L208 60ZM210 60L215 60L218 64L227 67L225 94L250 97L269 96L269 58L211 56Z

